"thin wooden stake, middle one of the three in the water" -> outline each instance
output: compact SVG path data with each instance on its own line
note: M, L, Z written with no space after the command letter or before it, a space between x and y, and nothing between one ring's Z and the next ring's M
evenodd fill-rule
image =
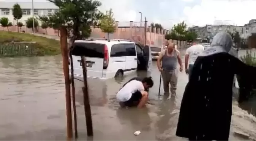
M72 49L71 49L72 50ZM73 57L70 50L70 67L71 67L71 87L72 87L72 101L73 101L73 110L74 110L74 129L75 129L75 138L78 137L77 133L77 117L76 117L76 91L74 84L74 65L73 65Z

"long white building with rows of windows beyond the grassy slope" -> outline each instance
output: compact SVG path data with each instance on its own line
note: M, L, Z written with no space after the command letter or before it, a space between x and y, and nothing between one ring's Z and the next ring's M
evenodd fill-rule
M23 15L19 19L25 25L25 21L32 17L32 2L17 2L22 9ZM7 17L13 25L16 25L16 20L13 19L13 5L16 2L0 2L0 18ZM58 10L58 7L51 2L34 2L34 16L35 18L39 15L49 15ZM40 21L38 21L40 23Z

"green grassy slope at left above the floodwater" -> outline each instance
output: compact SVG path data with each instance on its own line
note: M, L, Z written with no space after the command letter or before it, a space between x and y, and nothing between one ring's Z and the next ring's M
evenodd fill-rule
M44 55L57 55L60 54L60 41L54 39L48 39L46 37L34 36L27 33L16 33L8 31L0 31L0 43L10 42L36 42L35 50L36 56Z

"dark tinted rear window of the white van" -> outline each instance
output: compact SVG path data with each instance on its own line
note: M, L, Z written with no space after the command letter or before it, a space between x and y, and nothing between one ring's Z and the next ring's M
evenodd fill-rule
M71 53L75 56L104 58L104 44L75 42Z

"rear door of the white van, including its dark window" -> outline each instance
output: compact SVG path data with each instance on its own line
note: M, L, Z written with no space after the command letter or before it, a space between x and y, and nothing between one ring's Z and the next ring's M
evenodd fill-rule
M87 77L103 76L104 44L95 42L75 42L72 50L74 75L82 75L81 56L85 56Z

